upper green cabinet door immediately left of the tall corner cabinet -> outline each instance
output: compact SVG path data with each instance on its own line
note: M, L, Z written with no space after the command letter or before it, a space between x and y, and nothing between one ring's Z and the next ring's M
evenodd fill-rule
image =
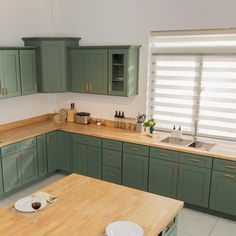
M20 50L22 95L37 93L36 58L34 50Z

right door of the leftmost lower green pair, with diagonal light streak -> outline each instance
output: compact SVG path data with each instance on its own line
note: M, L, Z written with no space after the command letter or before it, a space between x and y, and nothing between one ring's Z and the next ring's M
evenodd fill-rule
M22 183L26 184L38 178L37 149L26 149L21 153Z

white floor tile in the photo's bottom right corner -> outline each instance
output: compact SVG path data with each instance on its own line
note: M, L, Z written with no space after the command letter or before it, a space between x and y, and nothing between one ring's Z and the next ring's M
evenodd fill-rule
M235 236L236 222L220 218L210 236Z

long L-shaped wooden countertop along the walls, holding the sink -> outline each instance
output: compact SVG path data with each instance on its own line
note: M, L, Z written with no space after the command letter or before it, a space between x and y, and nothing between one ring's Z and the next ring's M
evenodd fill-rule
M124 142L147 145L151 147L165 148L180 152L188 152L213 158L236 161L235 142L199 138L198 140L205 140L207 142L216 143L216 145L210 151L203 151L189 147L161 143L160 141L162 139L170 136L170 134L167 132L159 131L157 137L150 138L145 133L137 133L124 129L96 125L79 125L69 122L56 125L51 120L36 122L34 124L25 125L19 128L11 129L9 131L0 132L0 147L55 130L91 135L100 138L114 139ZM189 136L186 136L186 138L191 139L191 137Z

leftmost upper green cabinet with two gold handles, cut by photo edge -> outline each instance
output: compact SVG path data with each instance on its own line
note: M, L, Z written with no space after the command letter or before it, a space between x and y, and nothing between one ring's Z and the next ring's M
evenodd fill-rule
M1 97L21 95L20 67L18 50L0 49Z

